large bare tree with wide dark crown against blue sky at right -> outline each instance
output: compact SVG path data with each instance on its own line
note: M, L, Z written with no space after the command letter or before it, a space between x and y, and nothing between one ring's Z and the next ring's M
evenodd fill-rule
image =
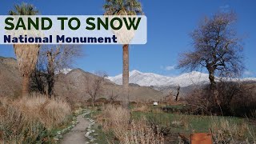
M210 89L216 92L214 76L238 77L242 74L242 39L234 30L236 14L217 13L205 18L190 34L194 50L181 54L178 68L198 70L206 68L209 72ZM217 103L218 94L214 94Z

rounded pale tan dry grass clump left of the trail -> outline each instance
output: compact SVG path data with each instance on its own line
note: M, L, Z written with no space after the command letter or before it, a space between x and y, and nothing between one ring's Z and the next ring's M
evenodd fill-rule
M47 129L58 125L68 114L71 114L68 103L62 99L49 99L45 96L21 98L13 102L13 106L21 110L27 120L38 120Z

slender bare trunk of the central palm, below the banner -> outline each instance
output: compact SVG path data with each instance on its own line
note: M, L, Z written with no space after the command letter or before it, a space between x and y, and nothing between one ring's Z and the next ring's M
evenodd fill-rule
M129 45L122 46L122 92L124 98L123 105L129 104Z

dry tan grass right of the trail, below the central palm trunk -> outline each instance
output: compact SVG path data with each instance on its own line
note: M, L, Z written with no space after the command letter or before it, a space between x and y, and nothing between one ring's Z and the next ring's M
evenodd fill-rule
M130 111L121 106L107 105L98 117L105 131L113 131L122 144L162 144L163 136L153 130L146 118L130 122Z

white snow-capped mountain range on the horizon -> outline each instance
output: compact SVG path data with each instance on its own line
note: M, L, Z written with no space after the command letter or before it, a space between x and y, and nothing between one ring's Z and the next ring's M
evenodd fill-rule
M154 73L142 73L138 70L130 71L130 83L138 84L139 86L190 86L203 85L209 83L208 74L198 71L180 74L176 77L168 77ZM114 77L109 77L110 81L122 85L122 74ZM256 78L244 78L242 81L256 81Z

